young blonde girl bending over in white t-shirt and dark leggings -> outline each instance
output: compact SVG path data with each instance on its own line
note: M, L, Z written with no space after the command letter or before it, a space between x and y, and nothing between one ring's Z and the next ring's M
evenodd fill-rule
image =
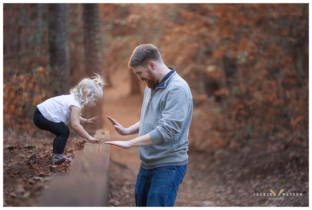
M91 78L81 79L78 85L71 88L70 95L56 96L37 105L33 116L35 125L56 135L53 140L52 164L57 160L67 159L64 149L70 132L66 124L70 121L72 129L82 138L91 142L100 141L90 136L82 127L82 125L92 124L98 116L86 120L80 115L82 108L86 110L93 108L103 97L104 86L106 81L95 74Z

